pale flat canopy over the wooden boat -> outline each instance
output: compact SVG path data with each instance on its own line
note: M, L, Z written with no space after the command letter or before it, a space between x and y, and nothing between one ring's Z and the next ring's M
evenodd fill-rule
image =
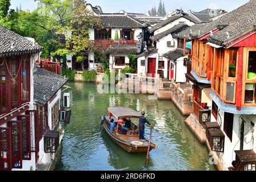
M109 107L109 111L116 118L139 118L141 116L140 113L128 107Z

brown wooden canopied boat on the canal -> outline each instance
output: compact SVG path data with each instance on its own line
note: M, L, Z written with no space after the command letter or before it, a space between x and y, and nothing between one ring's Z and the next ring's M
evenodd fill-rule
M129 120L132 118L139 118L141 114L127 107L110 107L108 110L111 119L114 119L116 127L113 132L110 131L110 116L102 116L101 124L103 125L109 137L127 152L147 152L149 147L149 140L139 140L138 126L131 122L130 134L127 134L127 131L124 131L123 134L121 134L121 125L119 124L119 121L124 118ZM156 148L156 144L150 143L150 151Z

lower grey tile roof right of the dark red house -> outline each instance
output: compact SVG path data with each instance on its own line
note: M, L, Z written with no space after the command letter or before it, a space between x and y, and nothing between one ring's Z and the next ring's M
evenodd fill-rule
M45 105L59 89L67 82L67 78L37 68L34 72L34 101L38 105Z

